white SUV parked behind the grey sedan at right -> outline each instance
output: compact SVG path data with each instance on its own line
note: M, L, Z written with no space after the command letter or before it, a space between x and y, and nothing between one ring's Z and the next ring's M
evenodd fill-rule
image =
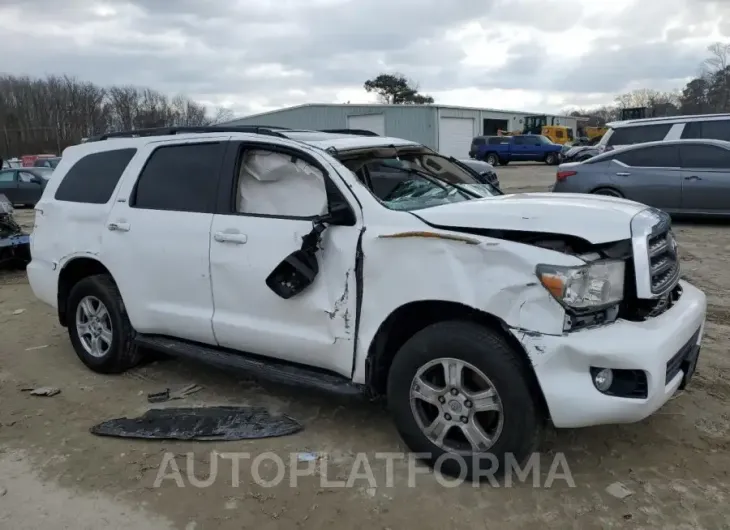
M730 141L730 114L667 116L607 124L597 147L599 153L626 145L663 140L698 139Z

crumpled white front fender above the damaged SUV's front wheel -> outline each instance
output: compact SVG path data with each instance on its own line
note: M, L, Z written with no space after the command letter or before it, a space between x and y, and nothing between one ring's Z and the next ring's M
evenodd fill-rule
M493 237L424 230L415 223L408 228L373 235L369 231L363 237L364 293L355 383L366 379L369 348L382 322L414 303L453 303L497 317L511 330L533 333L535 348L528 352L533 360L542 348L541 336L562 336L564 311L540 285L535 265L576 266L583 260ZM421 236L424 232L429 235ZM387 237L392 235L396 237Z

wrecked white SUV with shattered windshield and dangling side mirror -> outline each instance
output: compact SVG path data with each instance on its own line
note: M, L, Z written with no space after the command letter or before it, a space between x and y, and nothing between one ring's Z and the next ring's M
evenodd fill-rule
M694 371L705 295L644 205L502 195L396 138L92 140L36 206L28 276L98 372L151 349L384 396L413 451L475 477L546 419L638 421Z

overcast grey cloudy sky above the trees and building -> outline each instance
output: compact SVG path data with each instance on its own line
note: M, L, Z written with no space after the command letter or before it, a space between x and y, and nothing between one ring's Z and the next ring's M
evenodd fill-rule
M730 0L0 0L0 73L184 93L236 115L369 102L397 71L437 103L530 111L680 88Z

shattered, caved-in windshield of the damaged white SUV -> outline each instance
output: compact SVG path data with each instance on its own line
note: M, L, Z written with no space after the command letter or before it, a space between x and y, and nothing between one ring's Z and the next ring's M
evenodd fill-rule
M435 153L357 159L345 165L391 210L420 210L500 195L469 169Z

